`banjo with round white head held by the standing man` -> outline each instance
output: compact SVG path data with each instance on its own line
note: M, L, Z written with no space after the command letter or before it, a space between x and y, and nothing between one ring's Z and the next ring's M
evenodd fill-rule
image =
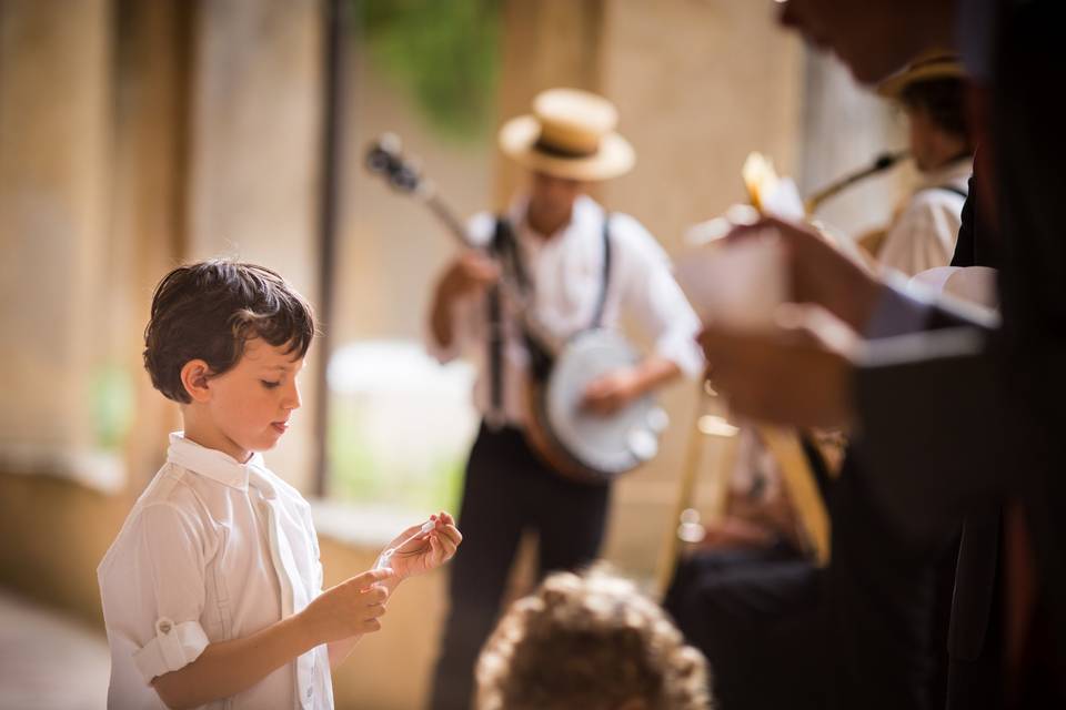
M386 134L372 143L366 152L366 168L398 192L423 202L463 248L485 252L471 242L465 226L441 199L433 182L404 159L399 138ZM560 342L537 321L516 270L509 268L500 254L490 256L501 263L500 293L515 304L531 351L534 345L543 351L531 352L531 364L535 365L536 355L545 356L545 365L531 367L526 378L525 437L533 450L552 470L589 484L610 483L654 458L668 419L651 394L610 416L586 412L582 406L590 383L640 362L636 349L620 334L595 326ZM502 317L495 311L489 324L490 341L502 343ZM486 420L490 426L502 424L491 417Z

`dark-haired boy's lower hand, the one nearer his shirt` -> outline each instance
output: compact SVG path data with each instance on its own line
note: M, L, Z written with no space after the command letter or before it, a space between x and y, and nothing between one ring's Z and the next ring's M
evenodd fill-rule
M393 576L391 569L372 569L319 595L299 615L315 645L381 629L389 590L378 582Z

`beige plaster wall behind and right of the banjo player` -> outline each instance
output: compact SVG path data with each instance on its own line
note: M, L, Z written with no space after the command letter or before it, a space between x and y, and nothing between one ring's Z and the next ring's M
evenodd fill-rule
M632 173L607 183L610 209L641 220L676 254L687 226L744 202L748 152L796 168L803 52L766 3L611 0L604 10L602 91L637 153ZM700 493L721 460L721 440L694 433L697 385L670 387L671 428L660 456L615 490L607 556L651 575L672 534L688 438L701 439Z

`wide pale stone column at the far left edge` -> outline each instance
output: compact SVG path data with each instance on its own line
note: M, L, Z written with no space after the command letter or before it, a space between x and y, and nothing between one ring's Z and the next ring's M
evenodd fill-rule
M0 454L8 468L77 474L97 460L91 385L111 324L101 296L112 256L110 37L107 0L0 3Z

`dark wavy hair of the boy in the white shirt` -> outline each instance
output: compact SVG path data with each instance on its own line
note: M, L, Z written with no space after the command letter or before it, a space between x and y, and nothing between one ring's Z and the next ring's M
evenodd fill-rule
M298 359L314 335L311 305L275 272L228 260L199 262L179 266L155 286L144 369L167 398L188 404L181 368L189 361L202 359L221 375L254 337L285 346Z

